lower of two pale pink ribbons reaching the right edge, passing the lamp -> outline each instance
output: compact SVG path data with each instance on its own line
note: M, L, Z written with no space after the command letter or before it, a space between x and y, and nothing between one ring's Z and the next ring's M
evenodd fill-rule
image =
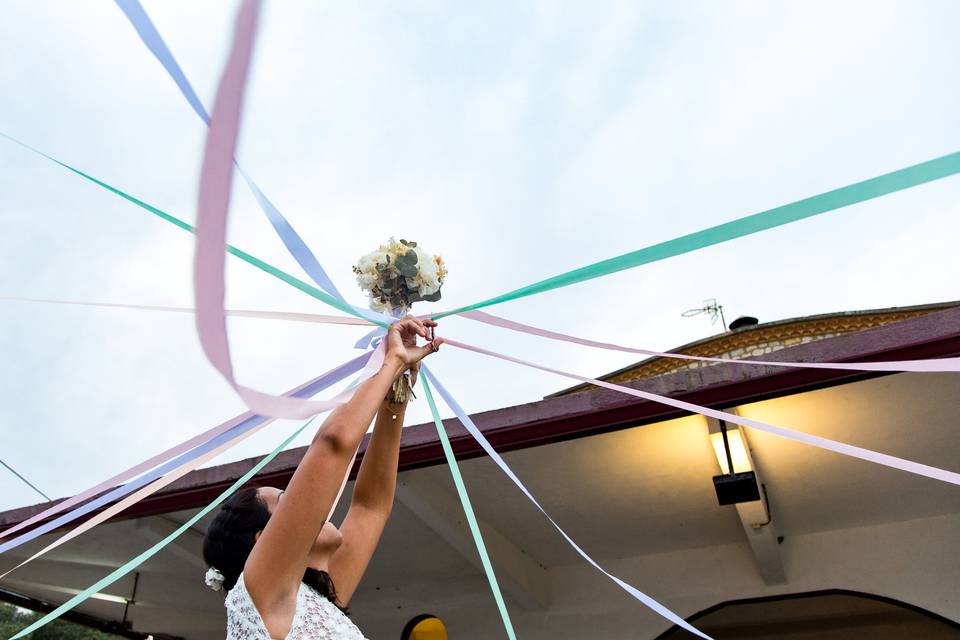
M631 396L643 398L644 400L652 400L654 402L659 402L660 404L665 404L671 407L675 407L677 409L689 411L690 413L699 413L700 415L707 416L710 418L716 418L718 420L726 420L727 422L733 422L734 424L743 425L745 427L752 427L754 429L757 429L758 431L772 433L773 435L780 436L781 438L786 438L788 440L793 440L795 442L801 442L803 444L819 447L821 449L826 449L827 451L833 451L834 453L841 453L845 456L859 458L861 460L866 460L867 462L880 464L885 467L900 469L901 471L906 471L907 473L912 473L918 476L924 476L926 478L932 478L934 480L940 480L942 482L949 482L950 484L960 485L960 473L956 473L953 471L938 469L937 467L931 467L929 465L920 464L919 462L913 462L911 460L897 458L896 456L887 455L885 453L878 453L876 451L871 451L870 449L855 447L853 445L845 444L843 442L837 442L836 440L821 438L820 436L813 436L800 431L794 431L793 429L778 427L776 425L767 424L766 422L761 422L759 420L752 420L750 418L744 418L743 416L734 415L732 413L727 413L725 411L717 411L716 409L710 409L709 407L701 407L700 405L696 405L691 402L684 402L682 400L676 400L674 398L670 398L667 396L661 396L655 393L649 393L647 391L640 391L639 389L631 389L630 387L624 387L618 384L605 382L603 380L595 380L593 378L579 376L574 373L560 371L559 369L553 369L551 367L546 367L544 365L528 362L526 360L521 360L520 358L514 358L513 356L507 356L502 353L496 353L494 351L490 351L488 349L481 349L480 347L474 347L468 344L464 344L462 342L457 342L456 340L451 340L450 338L446 338L445 343L451 344L455 347L459 347L460 349L464 349L466 351L473 351L475 353L491 356L493 358L500 358L501 360L506 360L507 362L513 362L515 364L523 365L525 367L540 369L541 371L548 371L550 373L555 373L559 376L564 376L565 378L571 378L573 380L586 382L588 384L593 384L598 387L603 387L605 389L619 391L620 393L626 393Z

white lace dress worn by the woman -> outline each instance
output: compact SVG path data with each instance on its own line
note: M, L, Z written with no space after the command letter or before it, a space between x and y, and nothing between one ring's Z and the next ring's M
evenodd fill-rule
M260 612L243 583L243 575L227 594L227 640L271 640ZM284 640L366 640L336 605L300 583L290 633Z

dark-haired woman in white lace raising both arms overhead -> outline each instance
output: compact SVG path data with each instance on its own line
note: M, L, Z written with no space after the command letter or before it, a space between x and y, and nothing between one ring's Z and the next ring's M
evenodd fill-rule
M437 351L435 322L406 317L387 333L383 367L317 431L286 490L247 488L210 523L207 584L226 588L227 640L362 640L346 616L393 505L405 405L385 398L404 371ZM417 346L417 336L429 342ZM325 520L376 414L350 510Z

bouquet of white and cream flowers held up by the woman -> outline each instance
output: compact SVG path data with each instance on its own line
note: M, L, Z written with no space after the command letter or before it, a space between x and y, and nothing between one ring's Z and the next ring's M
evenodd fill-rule
M390 238L390 242L360 258L353 267L357 284L370 298L370 308L401 317L414 302L440 300L447 276L440 256L430 255L416 242ZM391 400L406 402L413 395L409 374L394 383Z

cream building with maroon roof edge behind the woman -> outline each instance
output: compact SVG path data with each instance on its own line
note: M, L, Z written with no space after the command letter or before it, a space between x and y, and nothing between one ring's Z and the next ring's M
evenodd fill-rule
M785 348L777 359L957 355L960 308L949 308ZM960 453L955 373L719 363L627 384L937 467L955 468ZM752 526L758 520L742 515L743 505L717 504L711 478L719 467L700 416L601 389L474 418L578 545L681 616L718 602L835 588L882 594L951 618L960 611L960 592L951 588L960 580L960 564L951 562L960 535L960 493L953 485L744 430L770 507L769 524L758 529ZM446 427L458 457L470 458L461 462L461 473L520 636L653 638L666 629L576 556L480 457L459 424ZM396 504L351 602L354 619L376 638L399 636L421 613L443 618L452 637L501 635L433 425L404 429L401 449ZM285 452L259 480L282 486L302 454ZM24 606L62 602L163 539L255 461L188 474L12 573L0 600L12 592ZM0 514L0 527L39 508ZM210 517L78 613L103 624L126 620L158 638L223 638L222 596L202 580L200 548ZM54 537L4 554L0 571ZM769 580L778 567L785 580Z

